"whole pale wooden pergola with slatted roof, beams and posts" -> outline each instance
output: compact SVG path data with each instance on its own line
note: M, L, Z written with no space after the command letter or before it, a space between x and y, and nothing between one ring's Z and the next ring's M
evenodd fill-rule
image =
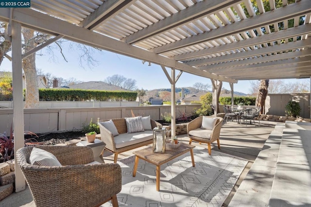
M263 0L31 0L31 8L0 8L12 27L15 150L23 147L22 58L60 38L158 64L172 91L182 72L211 79L214 97L220 81L233 91L239 80L310 78L311 1L283 0L280 8L268 1L269 11ZM22 54L21 27L53 38ZM16 191L23 179L16 168Z

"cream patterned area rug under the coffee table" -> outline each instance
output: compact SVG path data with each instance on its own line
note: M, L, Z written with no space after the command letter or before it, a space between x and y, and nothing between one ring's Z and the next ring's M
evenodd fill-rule
M139 160L133 177L135 156L118 162L122 168L119 206L221 207L247 164L247 160L195 147L195 167L190 153L161 165L160 191L156 191L155 165ZM105 203L103 207L111 206Z

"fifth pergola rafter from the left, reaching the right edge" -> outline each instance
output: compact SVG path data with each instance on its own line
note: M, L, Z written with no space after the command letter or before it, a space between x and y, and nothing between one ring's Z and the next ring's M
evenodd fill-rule
M299 41L295 41L295 42L289 42L286 44L284 43L284 44L280 44L280 45L270 46L270 47L266 47L266 48L260 48L257 50L237 52L237 53L227 54L227 55L213 57L213 58L194 60L194 61L188 62L188 65L199 66L199 65L204 65L204 64L222 63L225 61L237 60L237 59L241 59L241 58L266 55L266 54L270 54L270 53L276 53L276 52L281 52L281 51L290 51L290 50L296 50L296 49L308 48L308 47L311 47L311 38L299 40ZM203 69L203 67L201 67L201 69ZM208 67L207 67L207 69L208 69Z

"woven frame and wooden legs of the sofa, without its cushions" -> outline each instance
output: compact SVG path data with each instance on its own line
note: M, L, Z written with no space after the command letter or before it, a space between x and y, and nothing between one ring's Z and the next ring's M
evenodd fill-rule
M153 140L150 139L148 141L143 141L143 142L140 142L140 143L137 143L137 144L132 144L132 145L129 145L129 146L117 149L114 136L112 135L112 133L109 130L107 130L100 123L102 121L104 122L104 121L109 121L109 120L100 120L98 122L98 125L99 125L99 129L101 131L101 139L106 144L105 149L107 149L110 152L113 152L115 154L115 156L114 156L114 162L115 163L118 160L119 153L123 153L123 152L129 151L129 150L133 150L133 149L136 149L138 147L142 147L142 146L145 146L145 145L153 143ZM112 119L112 121L115 124L116 128L118 129L118 133L119 134L127 133L126 121L125 121L124 118ZM158 122L156 122L154 120L150 120L150 121L151 121L152 129L155 128L157 125L160 125Z

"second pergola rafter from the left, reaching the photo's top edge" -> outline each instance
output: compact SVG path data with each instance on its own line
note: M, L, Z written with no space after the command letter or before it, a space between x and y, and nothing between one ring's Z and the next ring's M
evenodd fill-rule
M128 44L144 41L147 38L172 30L195 19L209 16L218 10L223 10L225 7L230 7L230 5L238 4L239 2L242 2L242 0L205 0L198 2L138 31L137 33L125 37L123 41Z

